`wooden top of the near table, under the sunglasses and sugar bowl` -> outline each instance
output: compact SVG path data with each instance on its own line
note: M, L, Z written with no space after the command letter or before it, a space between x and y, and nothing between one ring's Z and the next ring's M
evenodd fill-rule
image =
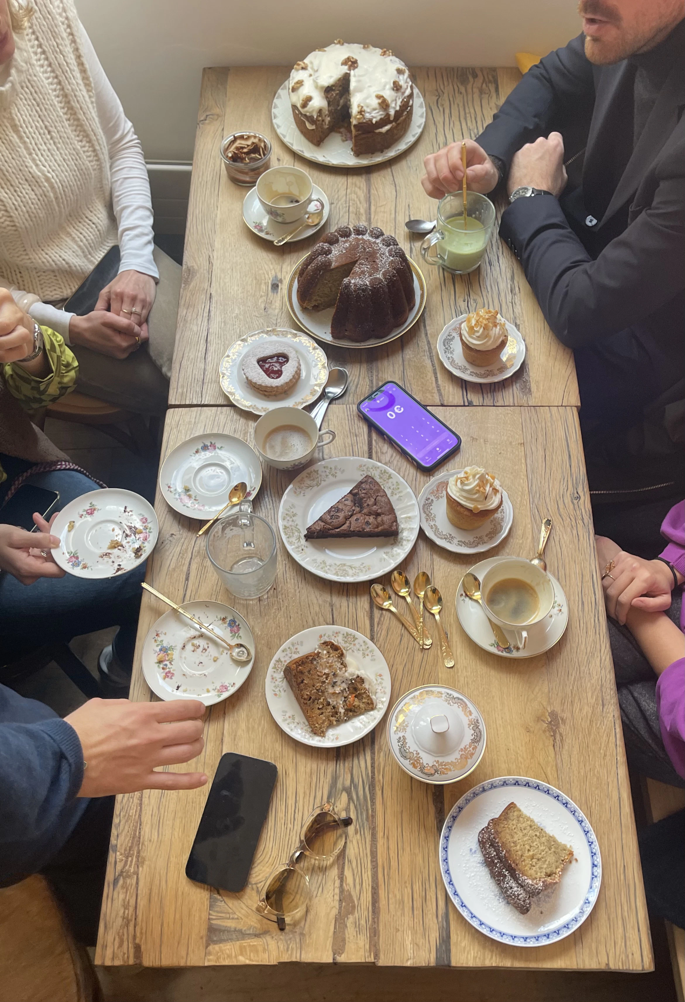
M455 668L437 645L421 651L388 613L375 609L368 584L335 584L305 572L279 540L276 585L240 602L220 585L197 538L199 523L173 511L157 492L159 540L147 580L181 600L219 599L252 626L256 661L242 688L211 707L206 747L179 770L214 775L233 750L275 762L279 779L246 890L219 893L194 884L185 864L207 798L146 792L117 798L96 962L101 965L375 963L390 966L516 967L644 971L652 968L642 875L614 674L594 550L592 517L576 410L571 407L439 407L462 436L454 466L494 472L513 506L508 537L487 555L534 552L543 517L554 529L548 565L569 598L565 636L547 654L516 664L487 654L461 630L454 608L459 578L474 562L429 543L423 533L404 569L425 569L442 591L443 620ZM254 418L230 407L178 408L166 417L162 456L197 434L252 440ZM416 494L429 479L379 436L354 408L333 405L337 433L325 456L368 456L400 473ZM321 458L321 455L320 455ZM256 511L273 525L292 475L265 471ZM387 578L385 579L387 583ZM143 595L131 698L151 696L139 668L142 641L164 607ZM429 682L451 684L483 714L488 740L477 769L461 783L431 788L407 776L387 746L385 720L354 744L308 747L285 734L265 699L268 664L301 629L336 623L369 636L391 672L394 702ZM597 905L568 939L537 949L499 945L450 905L438 868L445 813L483 780L530 776L559 787L597 834L603 882ZM334 864L311 871L306 919L280 933L254 906L261 883L296 846L311 809L331 799L354 825Z

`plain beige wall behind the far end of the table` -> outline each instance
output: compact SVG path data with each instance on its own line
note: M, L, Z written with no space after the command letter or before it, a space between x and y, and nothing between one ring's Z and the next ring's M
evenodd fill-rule
M544 55L580 30L575 0L76 0L76 6L145 156L162 160L193 156L203 66L288 65L334 38L385 45L415 65L506 66L517 51Z

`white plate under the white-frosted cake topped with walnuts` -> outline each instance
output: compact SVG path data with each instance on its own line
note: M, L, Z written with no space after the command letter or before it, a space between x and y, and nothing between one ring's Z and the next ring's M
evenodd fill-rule
M379 153L363 153L355 156L352 152L351 139L345 139L339 132L331 132L320 146L306 139L295 124L292 105L288 92L289 80L279 87L271 106L271 120L279 136L286 146L313 163L323 163L327 167L368 167L373 163L385 163L394 159L416 142L425 125L425 102L420 91L414 85L414 108L409 128L401 139L398 139L388 149Z

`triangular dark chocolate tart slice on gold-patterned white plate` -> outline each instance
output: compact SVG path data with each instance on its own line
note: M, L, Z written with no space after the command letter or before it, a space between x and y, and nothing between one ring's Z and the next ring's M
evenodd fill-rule
M305 539L370 538L398 533L390 498L377 480L366 476L307 527Z

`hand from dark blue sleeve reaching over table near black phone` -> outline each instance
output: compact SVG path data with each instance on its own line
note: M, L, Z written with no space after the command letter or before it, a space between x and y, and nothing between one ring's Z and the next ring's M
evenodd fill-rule
M204 715L205 706L198 699L88 699L64 717L78 734L86 763L78 796L204 787L204 773L154 772L200 755L205 746Z

